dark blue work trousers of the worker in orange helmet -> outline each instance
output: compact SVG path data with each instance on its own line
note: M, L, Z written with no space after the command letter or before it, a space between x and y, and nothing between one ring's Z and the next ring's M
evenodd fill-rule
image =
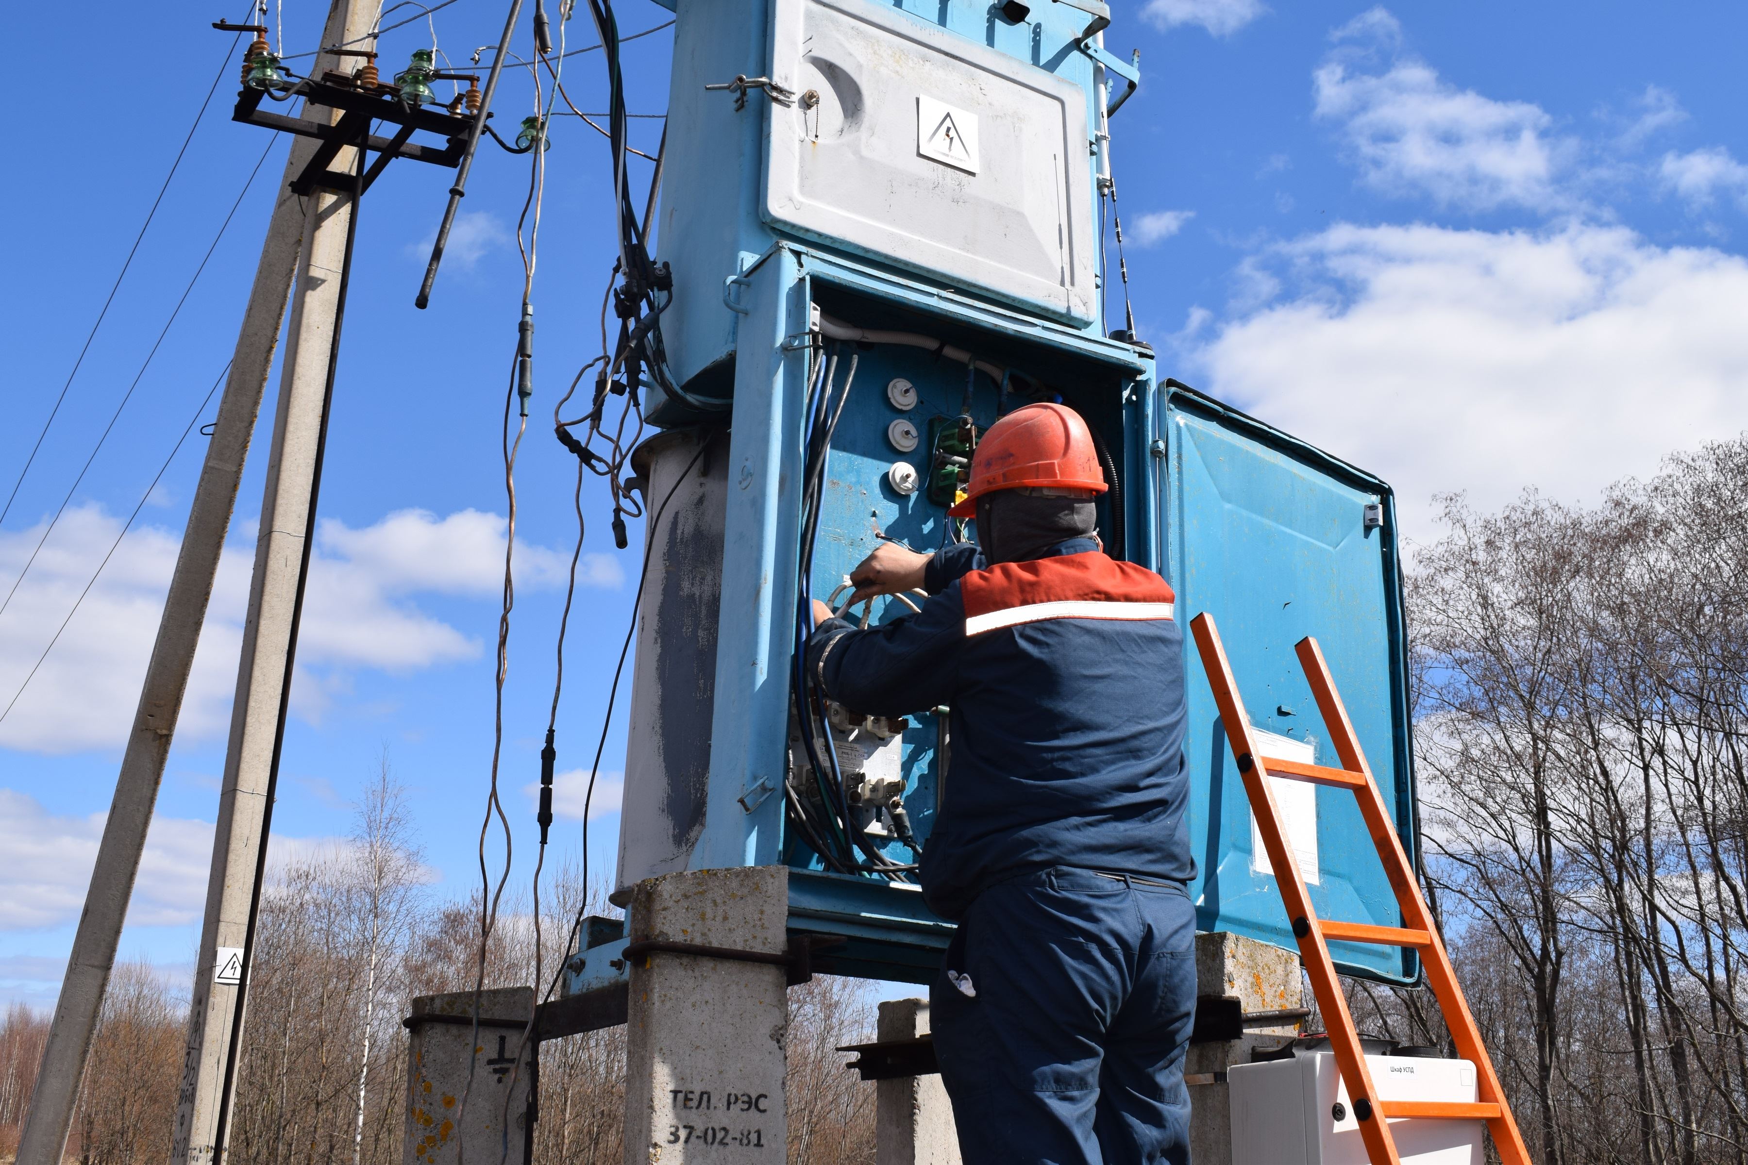
M1058 866L986 889L930 985L965 1165L1187 1165L1196 910Z

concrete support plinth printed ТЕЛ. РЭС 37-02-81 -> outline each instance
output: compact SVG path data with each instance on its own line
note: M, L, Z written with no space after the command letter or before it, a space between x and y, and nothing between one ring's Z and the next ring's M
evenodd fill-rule
M783 954L788 870L668 873L631 893L638 941ZM652 952L631 959L626 1165L783 1165L781 966Z

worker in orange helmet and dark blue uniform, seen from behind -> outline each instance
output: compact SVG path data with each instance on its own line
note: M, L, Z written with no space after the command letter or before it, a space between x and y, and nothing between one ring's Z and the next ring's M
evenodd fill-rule
M967 1165L1189 1162L1183 636L1169 583L1103 554L1105 489L1080 416L1026 405L953 508L975 545L888 543L851 575L858 599L921 587L919 613L858 631L815 603L832 700L951 707L919 880L958 922L930 1024Z

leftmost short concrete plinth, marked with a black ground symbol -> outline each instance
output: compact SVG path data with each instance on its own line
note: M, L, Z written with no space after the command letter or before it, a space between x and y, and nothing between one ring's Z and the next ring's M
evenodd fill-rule
M535 1043L530 1039L523 1048L523 1031L533 1010L533 987L479 992L475 1039L474 992L413 1001L404 1165L498 1165L500 1160L526 1165L533 1148L528 1095L535 1083Z

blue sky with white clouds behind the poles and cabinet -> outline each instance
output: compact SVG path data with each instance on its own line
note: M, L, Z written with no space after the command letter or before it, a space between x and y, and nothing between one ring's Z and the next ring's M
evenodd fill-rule
M953 0L961 2L961 0ZM238 7L238 5L232 5ZM413 12L406 9L402 14ZM624 0L621 28L668 12ZM0 190L14 224L0 286L0 489L10 491L215 72L175 182L0 522L0 706L72 610L218 376L253 274L283 141L227 121L234 54L215 10L126 7L96 61L14 63L30 152ZM241 12L231 12L232 19ZM285 42L315 47L323 10L287 0ZM14 44L59 44L40 9L9 9ZM502 5L435 17L463 65ZM1440 493L1493 507L1524 487L1594 500L1610 480L1748 428L1748 17L1722 3L1264 5L1119 2L1106 44L1141 49L1143 86L1113 122L1141 335L1161 369L1391 480L1411 538L1437 536ZM423 23L385 38L399 63ZM584 23L572 44L589 44ZM633 112L668 100L668 33L626 49ZM566 89L605 101L600 63ZM101 72L98 72L101 70ZM108 86L93 84L107 80ZM703 80L703 79L699 79ZM66 87L79 86L68 103ZM531 108L526 73L503 108ZM149 110L122 115L122 110ZM98 110L110 112L101 121ZM654 152L659 121L636 122ZM271 148L252 187L245 180ZM612 262L605 140L561 119L549 154L535 304L535 417L598 351ZM642 162L640 162L642 164ZM638 171L640 178L645 171ZM285 744L276 831L297 845L348 828L386 749L413 791L437 894L465 894L491 751L491 646L503 548L498 424L523 267L524 159L486 148L432 307L413 295L447 175L397 162L358 232L325 515ZM238 204L163 346L75 477ZM274 383L269 384L269 389ZM271 400L271 396L269 396ZM201 421L212 419L212 405ZM192 957L210 861L236 645L260 508L269 409L238 500L208 631L159 798L122 954ZM157 608L199 470L191 437L133 533L0 720L0 996L47 1006L108 807ZM517 879L551 700L573 524L573 461L531 426L517 466L519 576L505 700L505 803ZM72 493L70 493L72 491ZM591 479L568 646L559 769L586 767L635 575ZM636 545L636 529L635 541ZM617 770L615 732L605 769ZM580 796L554 828L580 844ZM612 788L610 784L607 786ZM610 872L614 798L591 826ZM598 805L600 809L600 805Z

